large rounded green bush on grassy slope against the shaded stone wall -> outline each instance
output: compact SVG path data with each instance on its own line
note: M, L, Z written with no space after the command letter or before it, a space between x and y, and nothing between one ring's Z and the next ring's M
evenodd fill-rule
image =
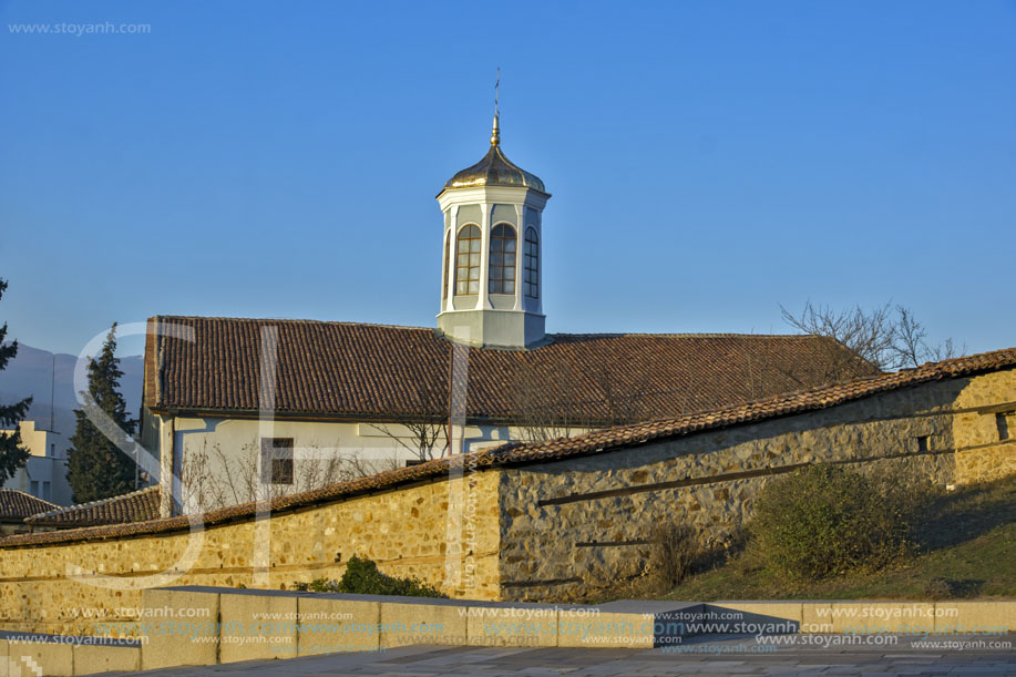
M812 465L770 482L749 525L762 563L789 581L876 570L906 555L920 502L889 475Z

